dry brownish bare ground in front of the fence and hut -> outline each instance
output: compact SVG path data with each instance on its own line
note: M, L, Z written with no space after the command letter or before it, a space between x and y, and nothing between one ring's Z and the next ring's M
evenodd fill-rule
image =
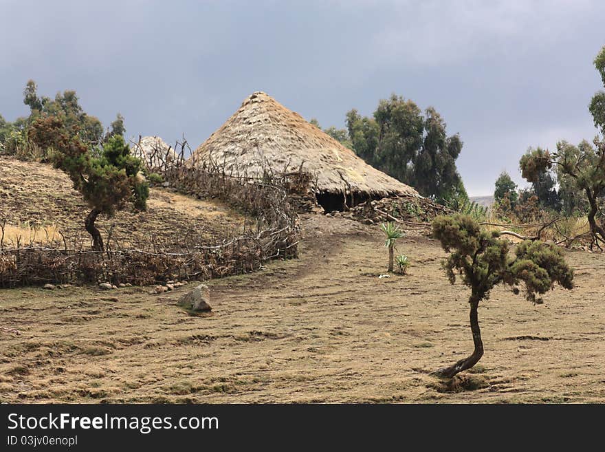
M485 356L446 388L428 373L472 338L437 242L401 240L410 274L379 279L376 226L316 215L303 233L300 259L211 281L210 316L175 305L191 286L1 290L0 401L605 402L605 255L567 253L576 288L542 305L494 290Z

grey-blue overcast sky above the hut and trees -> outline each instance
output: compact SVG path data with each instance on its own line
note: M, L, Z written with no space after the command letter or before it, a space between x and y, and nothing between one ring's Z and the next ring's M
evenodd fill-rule
M322 127L396 93L464 142L470 195L517 182L529 146L591 139L605 1L0 0L0 114L75 89L126 135L197 147L254 91Z

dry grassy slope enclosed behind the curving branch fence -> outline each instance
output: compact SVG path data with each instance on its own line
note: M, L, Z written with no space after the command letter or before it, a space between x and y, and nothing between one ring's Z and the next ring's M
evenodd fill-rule
M49 164L21 162L0 157L0 223L5 221L5 246L44 243L48 238L89 235L83 228L89 208L72 188L69 177ZM196 200L167 189L152 188L147 210L137 215L126 209L108 219L100 215L97 226L111 237L113 248L146 248L155 243L160 248L178 249L186 237L197 244L214 244L217 237L238 230L245 218L220 202Z

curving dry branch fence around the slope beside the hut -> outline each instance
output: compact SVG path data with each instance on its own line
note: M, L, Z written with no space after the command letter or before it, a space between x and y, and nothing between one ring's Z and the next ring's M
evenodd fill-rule
M276 175L267 171L262 180L228 174L221 165L186 165L184 149L168 164L153 168L181 193L217 197L256 218L238 234L230 234L217 244L186 246L182 250L108 249L87 250L83 237L52 237L43 246L5 246L0 236L0 288L45 283L131 283L144 285L169 279L212 279L250 272L268 259L296 257L298 217L288 202L291 185L304 180L298 176ZM151 160L153 161L153 159ZM298 177L298 178L297 178ZM1 226L1 224L0 224ZM3 228L2 228L3 231ZM149 243L153 242L150 237Z

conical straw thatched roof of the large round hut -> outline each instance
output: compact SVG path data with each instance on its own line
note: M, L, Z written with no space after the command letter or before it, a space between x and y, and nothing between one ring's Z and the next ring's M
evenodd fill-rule
M418 195L263 92L246 98L194 151L189 162L210 160L224 164L227 171L245 171L250 177L263 175L266 164L276 172L298 171L302 165L316 180L318 192Z

